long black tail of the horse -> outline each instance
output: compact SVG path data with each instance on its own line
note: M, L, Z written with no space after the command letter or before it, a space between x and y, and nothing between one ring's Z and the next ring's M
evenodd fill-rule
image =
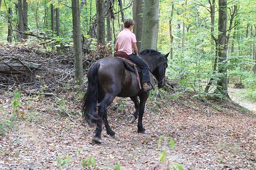
M90 125L95 125L97 118L96 105L98 100L98 70L99 63L94 63L87 74L88 87L86 94L82 100L83 103L83 118L84 122L87 121Z

